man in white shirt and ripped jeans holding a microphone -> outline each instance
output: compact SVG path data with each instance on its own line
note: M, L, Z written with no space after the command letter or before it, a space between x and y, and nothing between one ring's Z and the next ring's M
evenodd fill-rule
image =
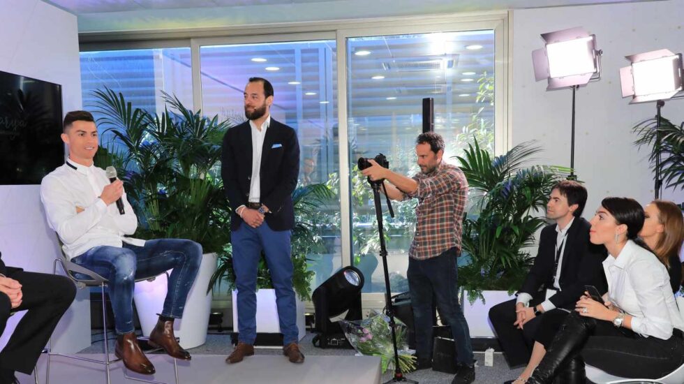
M144 241L124 237L135 232L137 217L126 200L124 183L119 179L110 183L105 170L93 163L98 149L93 115L86 111L68 112L61 139L68 146L69 157L64 165L43 177L40 199L50 228L64 243L66 256L109 281L117 332L115 355L131 371L154 374L154 366L135 337L133 288L135 279L173 269L164 307L149 335L149 344L163 348L177 359L190 360L190 353L174 337L173 323L183 316L202 259L202 246L186 239ZM114 204L119 199L124 214Z

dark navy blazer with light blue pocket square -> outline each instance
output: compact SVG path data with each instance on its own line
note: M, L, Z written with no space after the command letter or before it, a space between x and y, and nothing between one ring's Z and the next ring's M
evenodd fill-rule
M246 205L252 177L252 134L249 121L234 126L223 136L221 177L232 208L230 228L236 230L242 219L236 209ZM266 223L272 230L291 230L295 226L292 191L299 175L299 142L294 129L273 117L266 130L261 154L261 203L271 213Z

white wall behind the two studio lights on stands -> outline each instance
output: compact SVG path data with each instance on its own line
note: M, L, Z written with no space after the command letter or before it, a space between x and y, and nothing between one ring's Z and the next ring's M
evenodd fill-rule
M575 168L589 191L585 217L607 195L630 196L642 204L653 200L650 149L637 151L630 128L655 116L655 103L629 105L628 98L621 98L618 71L629 64L627 54L684 51L683 14L680 0L513 12L513 144L539 140L546 149L544 163L570 165L572 91L546 91L546 82L535 82L532 51L543 46L540 34L584 27L603 50L602 79L577 91ZM676 124L684 121L684 100L666 102L662 115ZM663 195L684 201L681 191L665 190Z

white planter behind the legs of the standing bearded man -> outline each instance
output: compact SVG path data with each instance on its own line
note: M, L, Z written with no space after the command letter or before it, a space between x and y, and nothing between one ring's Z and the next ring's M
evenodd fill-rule
M276 306L276 290L260 289L257 295L257 333L281 333L280 322L278 321L278 307ZM299 340L306 336L306 323L304 322L304 302L295 295L297 305L297 329L299 330ZM232 323L235 332L237 326L237 290L232 291Z

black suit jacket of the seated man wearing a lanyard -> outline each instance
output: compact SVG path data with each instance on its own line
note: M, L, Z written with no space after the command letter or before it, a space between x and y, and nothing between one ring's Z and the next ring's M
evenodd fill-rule
M589 242L590 227L588 221L576 217L567 230L563 264L560 265L560 292L551 297L556 308L574 309L585 285L595 286L602 294L608 290L602 265L608 253L604 246ZM544 301L547 288L553 288L556 237L555 223L542 229L537 258L520 290L535 297L537 302Z

